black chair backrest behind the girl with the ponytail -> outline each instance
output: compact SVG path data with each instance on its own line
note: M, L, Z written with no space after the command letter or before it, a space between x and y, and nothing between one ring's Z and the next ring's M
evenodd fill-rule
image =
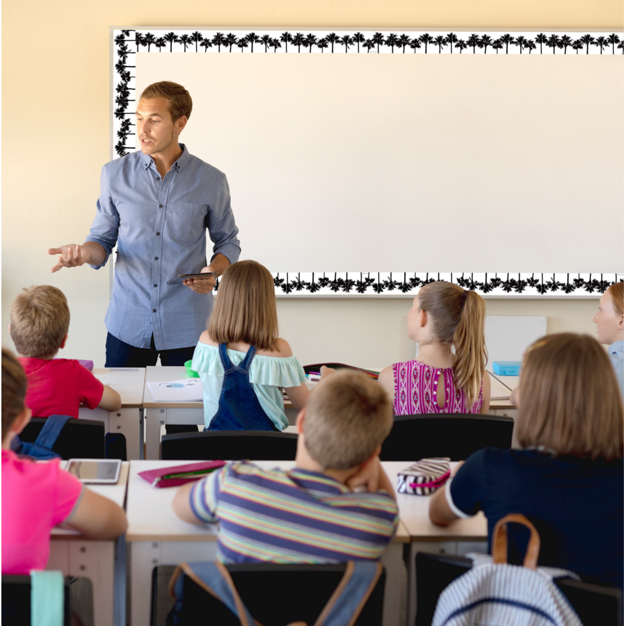
M399 415L383 443L380 460L419 460L449 456L465 460L472 452L493 446L510 448L513 418L495 415L440 413Z

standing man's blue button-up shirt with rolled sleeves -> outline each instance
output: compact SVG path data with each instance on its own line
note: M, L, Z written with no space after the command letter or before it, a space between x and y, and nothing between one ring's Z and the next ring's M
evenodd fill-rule
M143 152L106 163L86 239L106 251L95 269L118 244L106 329L138 348L150 348L152 335L157 350L198 342L213 295L166 283L207 265L206 229L213 256L220 252L234 263L241 251L225 175L180 147L183 153L163 180Z

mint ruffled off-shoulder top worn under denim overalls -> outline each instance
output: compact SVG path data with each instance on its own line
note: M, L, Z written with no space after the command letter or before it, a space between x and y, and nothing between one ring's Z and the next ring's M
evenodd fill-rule
M246 358L246 353L239 350L227 350L227 354L233 365L241 364ZM218 346L198 342L193 353L191 368L200 374L200 380L202 380L204 426L210 428L220 408L220 396L224 384L224 366ZM289 426L289 422L284 415L282 387L300 387L306 382L307 377L302 365L294 355L271 357L255 354L250 362L248 376L252 390L265 415L271 419L279 431L284 431Z

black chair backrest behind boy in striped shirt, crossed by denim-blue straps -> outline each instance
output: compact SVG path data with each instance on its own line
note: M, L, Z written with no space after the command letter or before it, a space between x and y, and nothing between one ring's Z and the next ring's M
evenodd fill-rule
M246 563L227 565L227 569L241 600L255 620L264 626L284 626L296 621L314 624L341 581L346 564ZM154 568L154 572L156 570ZM155 574L153 585L156 579ZM383 619L384 592L385 570L364 604L355 626L380 626ZM182 623L200 623L200 618L206 620L207 616L211 616L211 624L239 626L239 619L224 604L186 575L183 597Z

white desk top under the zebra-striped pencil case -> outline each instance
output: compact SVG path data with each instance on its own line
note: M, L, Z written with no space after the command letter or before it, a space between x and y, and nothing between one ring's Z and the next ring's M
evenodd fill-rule
M398 472L415 461L384 461L383 467L392 485L398 479ZM454 467L456 463L451 463ZM400 509L400 519L406 526L413 541L482 541L487 538L487 519L482 511L467 520L458 520L449 527L435 526L428 517L431 496L396 494Z

